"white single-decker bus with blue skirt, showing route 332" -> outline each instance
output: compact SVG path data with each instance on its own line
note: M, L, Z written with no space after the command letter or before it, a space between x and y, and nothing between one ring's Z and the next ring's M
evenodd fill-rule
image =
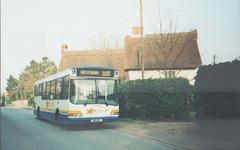
M117 69L72 67L35 82L34 114L62 124L117 122Z

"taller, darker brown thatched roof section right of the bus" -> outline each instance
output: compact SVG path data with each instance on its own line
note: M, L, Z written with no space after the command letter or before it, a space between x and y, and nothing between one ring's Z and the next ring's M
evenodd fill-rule
M147 34L143 39L145 69L196 68L202 65L197 30L182 33ZM125 38L125 70L141 68L141 38Z

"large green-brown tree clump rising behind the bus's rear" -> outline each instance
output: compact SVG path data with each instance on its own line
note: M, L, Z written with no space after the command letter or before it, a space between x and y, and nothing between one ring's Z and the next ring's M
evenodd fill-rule
M42 62L35 60L30 62L30 66L26 66L19 77L17 92L18 99L29 99L34 96L34 83L44 77L50 76L57 72L57 67L48 57L43 57Z

